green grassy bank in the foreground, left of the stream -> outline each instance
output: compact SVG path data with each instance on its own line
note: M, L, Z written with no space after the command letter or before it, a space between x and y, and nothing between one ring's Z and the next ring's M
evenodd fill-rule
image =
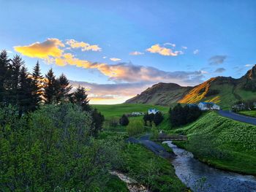
M151 191L186 191L173 166L164 158L137 144L124 147L124 166L120 170Z

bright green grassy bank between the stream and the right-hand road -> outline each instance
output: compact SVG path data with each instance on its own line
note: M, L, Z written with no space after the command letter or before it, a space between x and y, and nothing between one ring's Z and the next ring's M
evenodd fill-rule
M172 132L187 134L189 141L176 145L191 151L200 161L220 169L256 175L256 126L209 112Z

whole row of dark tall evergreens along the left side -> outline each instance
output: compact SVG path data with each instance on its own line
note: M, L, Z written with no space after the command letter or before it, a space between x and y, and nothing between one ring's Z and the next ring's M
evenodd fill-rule
M71 102L77 104L83 111L91 112L95 130L92 134L102 129L104 116L92 109L86 90L78 87L72 91L72 85L64 74L59 77L50 69L45 76L42 75L39 62L29 73L25 62L19 55L10 59L6 50L0 53L0 106L12 105L22 115L34 112L44 104L63 104Z

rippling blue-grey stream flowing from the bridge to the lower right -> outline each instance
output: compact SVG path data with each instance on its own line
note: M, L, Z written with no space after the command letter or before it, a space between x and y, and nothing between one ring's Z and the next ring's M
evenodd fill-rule
M256 177L226 172L203 164L187 150L172 142L167 143L177 155L172 160L178 178L193 191L204 192L256 192Z

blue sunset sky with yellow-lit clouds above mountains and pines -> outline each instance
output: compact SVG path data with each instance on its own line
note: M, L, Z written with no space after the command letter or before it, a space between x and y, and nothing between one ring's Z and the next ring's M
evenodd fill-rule
M0 50L53 68L91 104L118 104L157 82L238 78L256 64L256 1L0 0Z

